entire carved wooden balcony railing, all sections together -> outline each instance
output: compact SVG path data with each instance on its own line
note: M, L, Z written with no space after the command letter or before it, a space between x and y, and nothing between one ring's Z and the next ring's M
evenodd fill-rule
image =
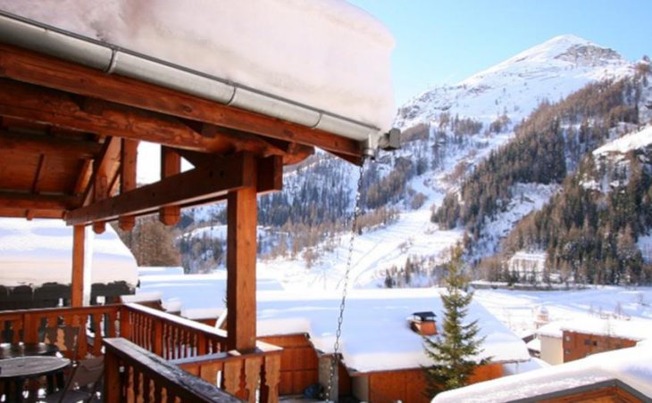
M74 341L71 328L86 332ZM279 399L280 348L227 350L225 332L138 304L3 311L0 334L69 358L104 355L104 401Z

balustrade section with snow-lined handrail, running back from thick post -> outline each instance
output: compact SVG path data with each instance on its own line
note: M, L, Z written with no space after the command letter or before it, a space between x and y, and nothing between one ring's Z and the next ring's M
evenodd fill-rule
M226 332L138 304L121 307L121 337L165 359L224 351Z

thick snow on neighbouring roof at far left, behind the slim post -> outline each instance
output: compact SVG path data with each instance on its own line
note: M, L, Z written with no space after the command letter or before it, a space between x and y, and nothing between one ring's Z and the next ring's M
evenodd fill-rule
M111 226L88 238L91 283L136 285L136 259ZM71 284L72 227L58 219L0 218L0 255L4 286Z

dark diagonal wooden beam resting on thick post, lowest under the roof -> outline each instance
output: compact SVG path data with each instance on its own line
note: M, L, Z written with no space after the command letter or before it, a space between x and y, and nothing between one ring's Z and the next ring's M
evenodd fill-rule
M255 178L245 176L244 172L246 161L251 159L253 156L250 154L238 154L215 160L210 166L197 167L69 211L66 223L76 226L97 220L112 220L126 214L146 214L163 206L199 202L226 194L254 183Z

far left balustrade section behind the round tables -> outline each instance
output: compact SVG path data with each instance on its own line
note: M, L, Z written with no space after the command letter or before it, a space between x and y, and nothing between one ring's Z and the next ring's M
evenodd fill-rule
M88 354L100 356L104 337L117 335L119 308L104 305L3 311L0 312L2 341L50 342L68 358L73 358L75 351L74 358Z

